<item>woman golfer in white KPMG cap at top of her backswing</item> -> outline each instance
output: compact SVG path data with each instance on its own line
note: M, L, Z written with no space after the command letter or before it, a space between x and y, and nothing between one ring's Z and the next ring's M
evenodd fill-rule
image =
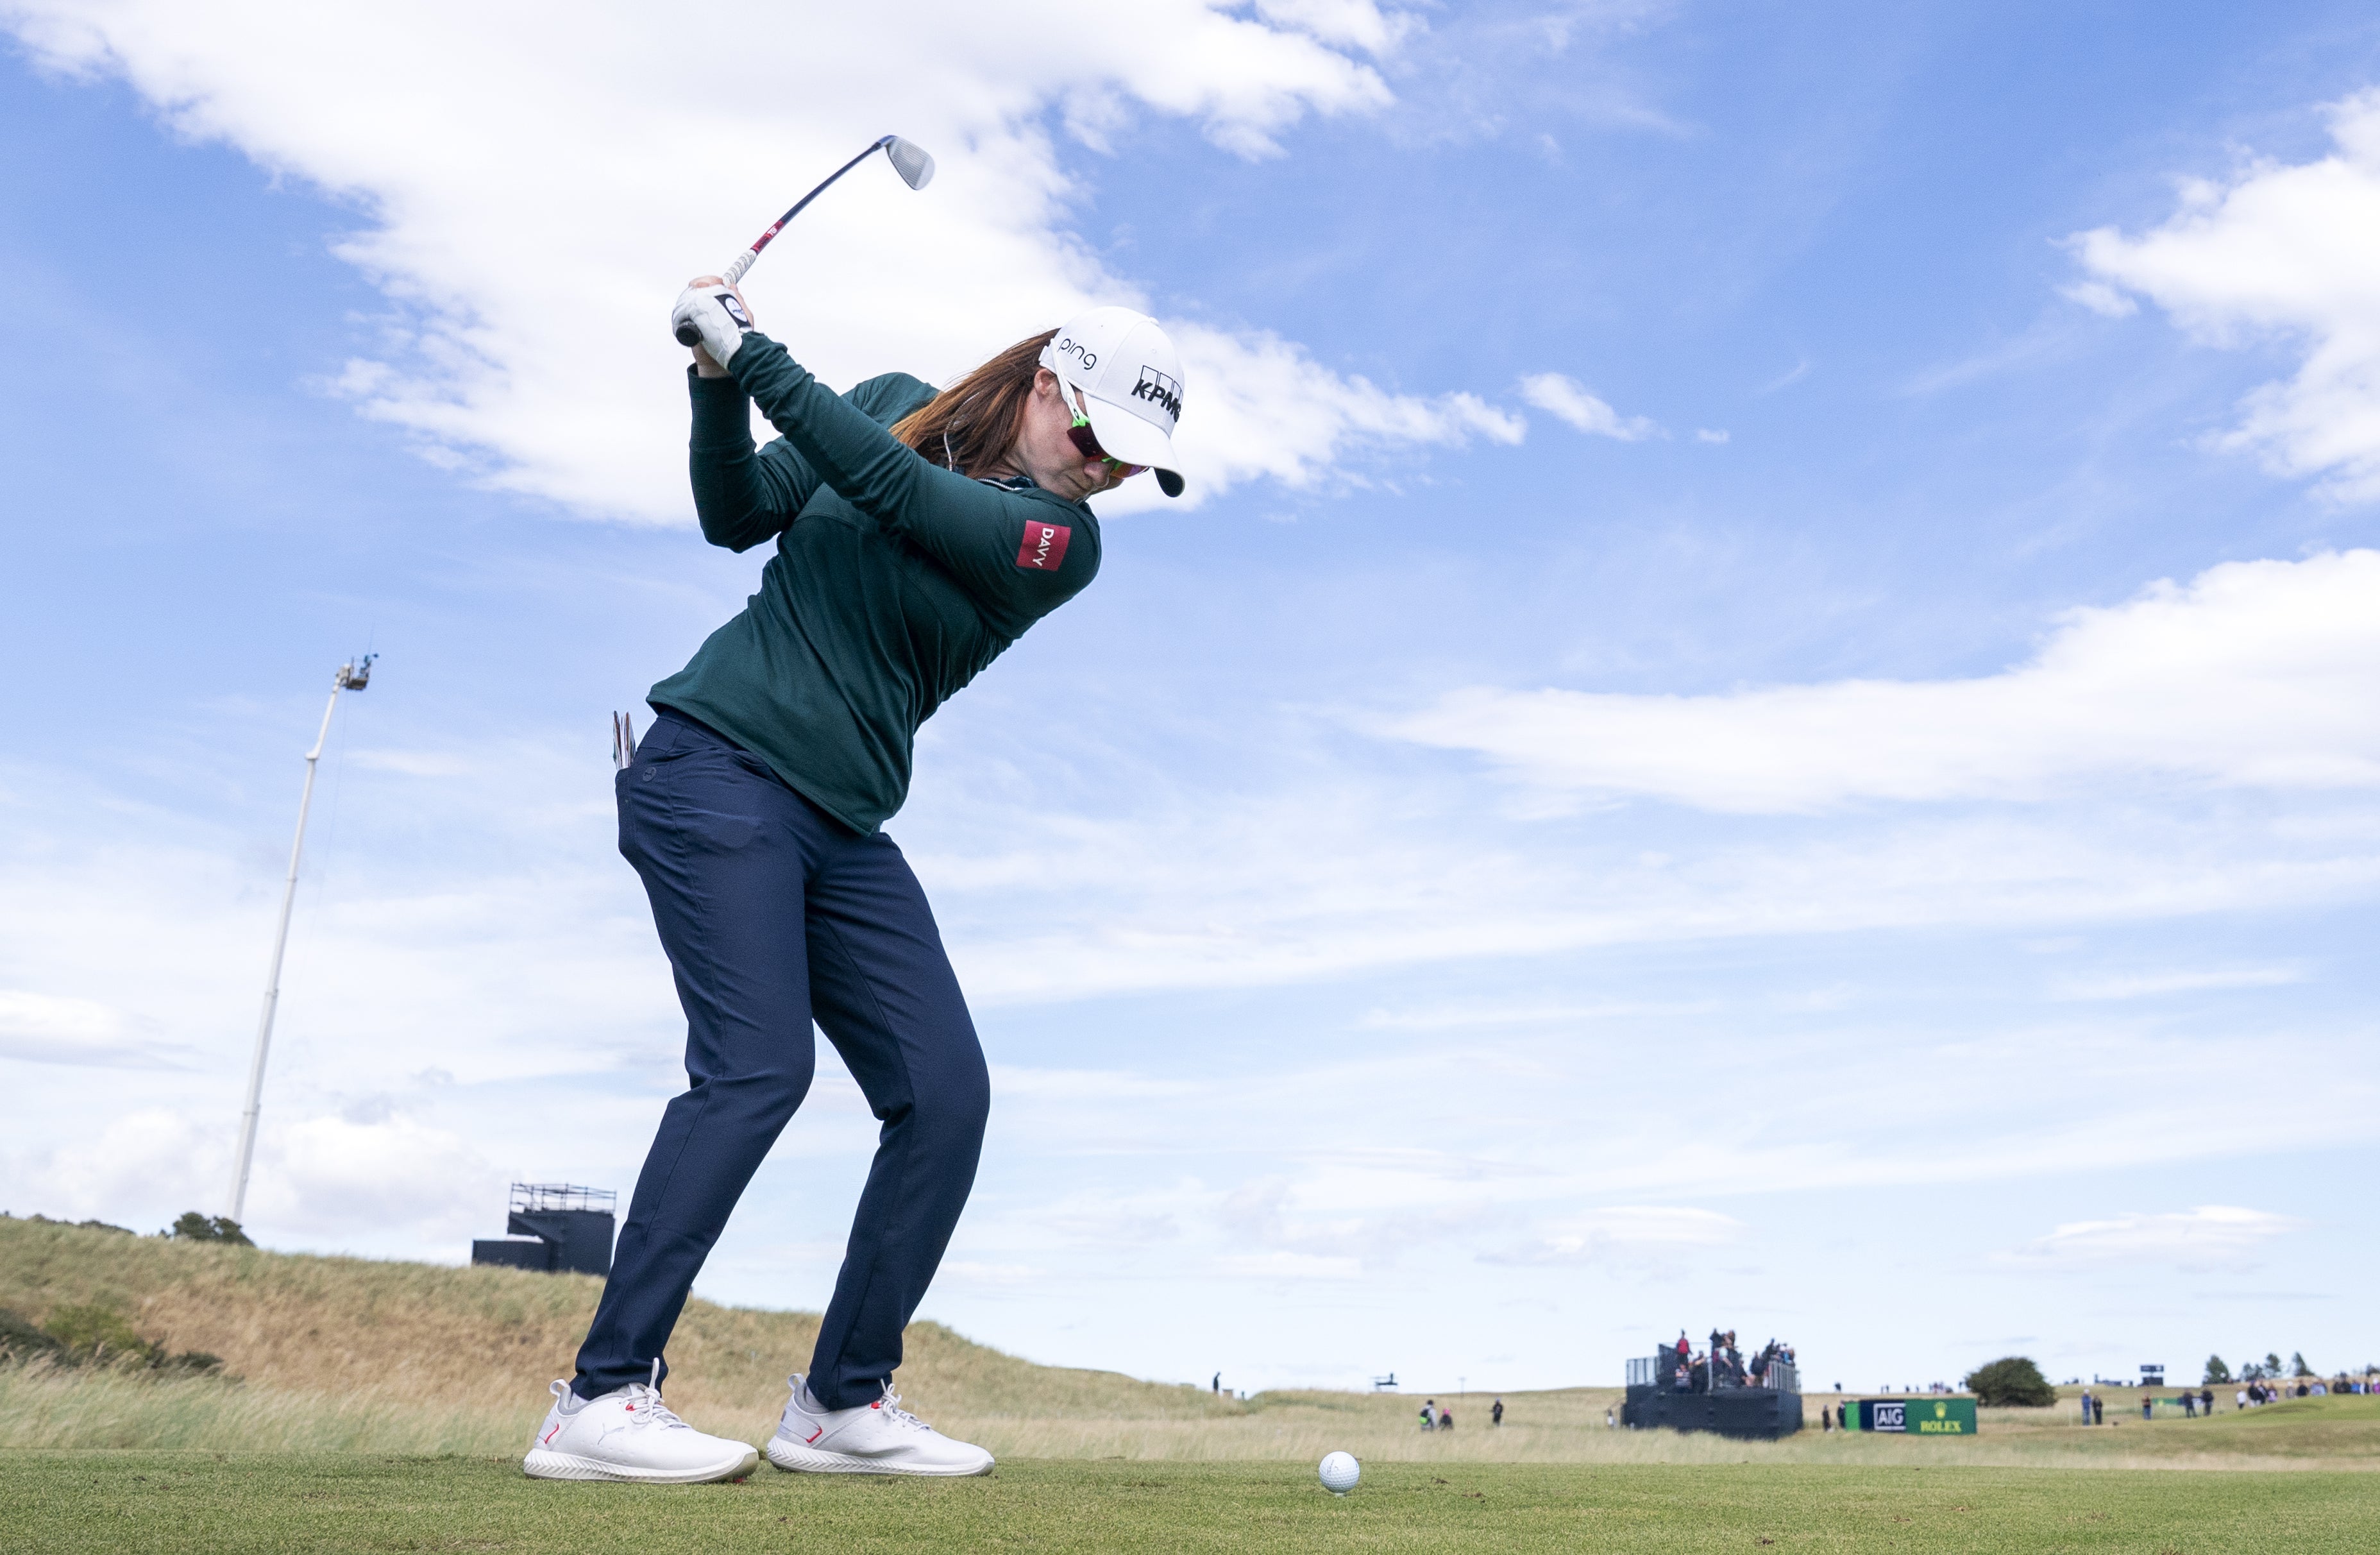
M985 1474L992 1455L900 1410L892 1369L976 1181L988 1076L926 893L878 831L916 726L1100 572L1085 498L1154 469L1180 493L1173 343L1126 307L1021 341L952 388L828 393L704 276L693 324L702 536L776 541L759 593L652 688L619 774L685 1007L688 1088L635 1179L578 1376L524 1460L545 1479L733 1479L757 1455L662 1405L662 1350L738 1195L802 1105L812 1019L883 1119L781 1469ZM750 405L783 436L752 448Z

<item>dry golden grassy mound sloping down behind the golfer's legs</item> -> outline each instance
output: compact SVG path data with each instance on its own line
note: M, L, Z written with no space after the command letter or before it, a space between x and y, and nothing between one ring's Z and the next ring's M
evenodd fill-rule
M224 1379L0 1372L0 1445L252 1445L495 1453L528 1441L569 1376L602 1281L524 1269L307 1257L0 1217L0 1307L48 1322L105 1310ZM669 1345L671 1405L712 1431L776 1429L814 1312L688 1303ZM236 1379L236 1381L226 1381ZM900 1376L947 1419L1161 1426L1240 1415L1195 1388L1038 1367L940 1324L909 1329Z

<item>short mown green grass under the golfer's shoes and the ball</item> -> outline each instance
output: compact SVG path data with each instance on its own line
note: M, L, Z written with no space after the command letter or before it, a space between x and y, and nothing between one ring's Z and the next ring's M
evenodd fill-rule
M2373 1548L2380 1479L1825 1465L1000 1465L992 1479L762 1472L540 1484L490 1457L31 1453L21 1550L2140 1550Z

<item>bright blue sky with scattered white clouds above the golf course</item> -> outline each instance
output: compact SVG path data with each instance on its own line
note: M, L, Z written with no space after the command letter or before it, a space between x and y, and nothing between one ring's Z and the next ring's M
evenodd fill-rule
M214 1207L364 648L250 1219L631 1186L605 714L759 567L657 319L900 129L938 183L762 326L940 379L1138 302L1192 452L890 824L995 1064L928 1317L1250 1388L2370 1360L2380 24L1012 12L0 7L5 1207ZM869 1145L828 1060L702 1291L816 1307Z

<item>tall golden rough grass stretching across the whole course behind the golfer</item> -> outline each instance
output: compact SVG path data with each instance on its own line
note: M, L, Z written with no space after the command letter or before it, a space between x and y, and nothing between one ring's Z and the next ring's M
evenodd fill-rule
M0 1367L0 1450L514 1453L545 1412L545 1384L569 1374L600 1291L576 1274L307 1257L0 1217L0 1307L45 1319L102 1303L174 1350L221 1355L236 1379ZM816 1331L812 1312L688 1303L669 1345L669 1400L707 1431L766 1441L785 1372L807 1364ZM2380 1467L2380 1398L2123 1429L2080 1429L2061 1403L1985 1410L1975 1441L1811 1429L1742 1443L1614 1431L1604 1412L1618 1410L1618 1388L1561 1388L1507 1393L1499 1429L1488 1424L1490 1395L1442 1398L1457 1429L1423 1434L1414 1395L1240 1403L1040 1367L940 1324L909 1329L895 1386L926 1419L1004 1457ZM1816 1424L1818 1398L1809 1410Z

